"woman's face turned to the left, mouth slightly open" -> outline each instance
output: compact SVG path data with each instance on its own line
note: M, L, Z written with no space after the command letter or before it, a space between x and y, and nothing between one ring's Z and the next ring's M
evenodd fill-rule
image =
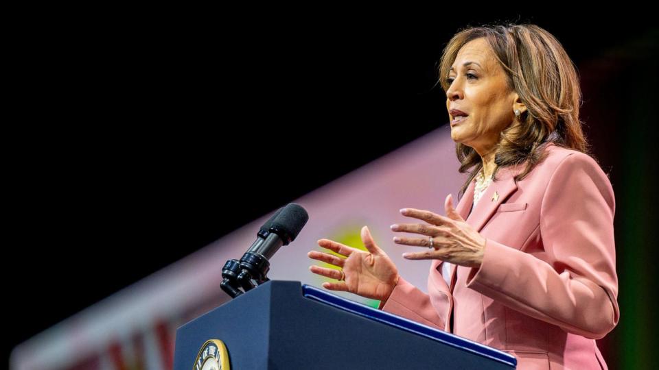
M509 88L503 67L485 38L471 40L460 49L448 81L446 109L451 138L484 156L496 147L500 132L513 122L513 104L519 97Z

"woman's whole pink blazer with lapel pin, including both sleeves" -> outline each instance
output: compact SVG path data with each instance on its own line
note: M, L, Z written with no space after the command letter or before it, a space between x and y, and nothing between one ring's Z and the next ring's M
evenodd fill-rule
M475 182L459 201L487 239L479 269L452 267L448 286L435 260L428 294L401 277L382 310L506 351L518 369L607 369L595 339L619 317L613 189L590 156L546 150L517 184L522 165L500 169L471 213Z

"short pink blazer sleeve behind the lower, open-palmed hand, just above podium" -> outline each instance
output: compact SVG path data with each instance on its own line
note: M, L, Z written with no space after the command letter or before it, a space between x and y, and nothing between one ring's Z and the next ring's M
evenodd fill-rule
M430 297L403 277L398 277L389 299L380 302L379 308L432 328L444 330L444 321L430 303Z

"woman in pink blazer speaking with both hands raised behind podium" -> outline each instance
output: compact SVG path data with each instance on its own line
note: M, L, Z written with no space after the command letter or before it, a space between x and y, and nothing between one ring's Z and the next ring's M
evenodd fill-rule
M451 138L470 176L446 216L404 208L393 242L433 260L428 294L406 282L367 227L362 251L309 257L323 286L380 299L382 310L507 351L519 369L606 369L595 343L618 322L607 175L588 155L575 67L536 25L465 29L439 66Z

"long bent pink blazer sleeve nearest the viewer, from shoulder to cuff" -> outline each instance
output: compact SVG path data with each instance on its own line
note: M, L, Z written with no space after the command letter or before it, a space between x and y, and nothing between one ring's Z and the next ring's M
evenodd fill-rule
M467 286L566 332L599 339L618 323L614 193L597 162L566 156L540 208L544 260L487 240Z

